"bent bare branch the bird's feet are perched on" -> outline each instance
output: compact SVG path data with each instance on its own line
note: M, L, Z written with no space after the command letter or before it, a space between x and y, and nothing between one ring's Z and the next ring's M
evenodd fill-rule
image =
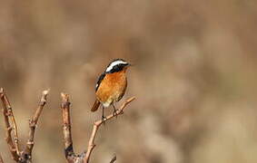
M132 97L132 98L124 101L124 104L121 106L121 108L119 110L116 110L116 112L114 114L111 114L111 115L107 116L104 120L97 120L97 121L94 122L93 131L92 131L91 137L89 139L87 151L86 151L85 157L84 157L84 163L89 163L90 156L91 156L91 154L93 152L93 149L95 147L94 139L96 137L97 130L100 128L100 126L105 121L111 120L114 117L123 114L124 113L124 108L126 107L126 105L129 104L130 102L132 102L134 99L135 99L135 97ZM112 159L112 161L114 162L115 160L113 160L113 159Z

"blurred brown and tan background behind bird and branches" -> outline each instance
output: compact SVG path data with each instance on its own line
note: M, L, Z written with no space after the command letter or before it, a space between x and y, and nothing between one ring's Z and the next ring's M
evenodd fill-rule
M256 16L254 0L2 0L0 87L23 143L51 89L33 155L61 163L60 92L71 95L80 153L101 117L90 111L95 82L124 58L134 64L124 99L136 101L99 130L92 162L256 163ZM0 153L13 162L4 138L1 115Z

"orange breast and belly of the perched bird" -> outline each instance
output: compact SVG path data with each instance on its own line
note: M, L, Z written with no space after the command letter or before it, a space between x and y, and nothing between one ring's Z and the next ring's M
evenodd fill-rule
M120 101L127 87L125 71L107 73L96 91L98 101L109 106L114 101Z

